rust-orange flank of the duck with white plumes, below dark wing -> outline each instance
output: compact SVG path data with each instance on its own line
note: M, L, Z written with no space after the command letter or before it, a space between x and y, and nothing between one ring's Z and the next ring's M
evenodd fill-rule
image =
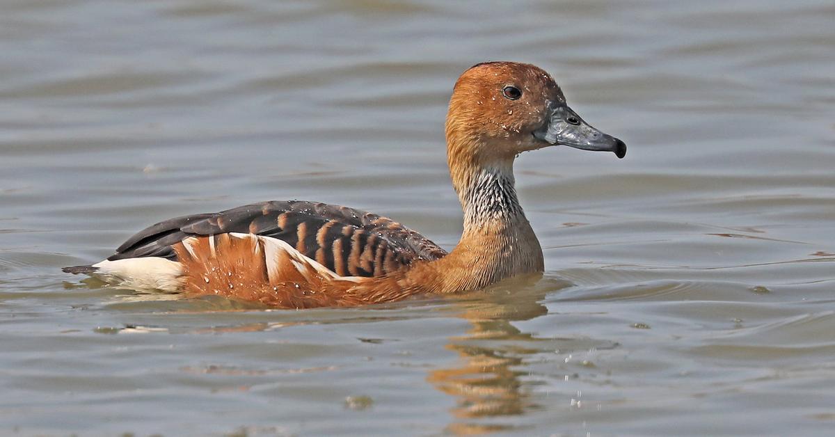
M342 277L290 246L271 250L279 244L252 234L228 233L175 243L184 291L297 309L396 302L423 292L409 285L406 269L387 277Z

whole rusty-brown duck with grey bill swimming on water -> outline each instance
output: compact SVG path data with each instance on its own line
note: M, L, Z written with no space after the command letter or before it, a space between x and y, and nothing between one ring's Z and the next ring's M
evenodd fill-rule
M475 64L461 74L445 135L463 210L463 234L450 252L370 212L266 201L160 221L104 261L63 272L136 290L289 309L479 290L544 272L542 248L514 187L519 154L555 145L626 154L623 141L569 108L550 74L516 62Z

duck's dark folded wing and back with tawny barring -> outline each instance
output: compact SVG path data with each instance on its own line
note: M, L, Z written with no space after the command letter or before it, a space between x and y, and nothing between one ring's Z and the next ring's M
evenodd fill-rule
M370 212L307 201L269 201L161 221L131 236L108 259L176 260L171 247L175 243L226 232L281 239L343 276L380 276L415 260L447 254L417 232Z

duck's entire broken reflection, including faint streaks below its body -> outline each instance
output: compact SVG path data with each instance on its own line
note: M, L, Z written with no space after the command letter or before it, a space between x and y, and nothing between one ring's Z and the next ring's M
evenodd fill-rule
M456 406L450 409L453 423L448 425L447 432L464 435L519 430L516 425L497 423L496 419L507 419L539 409L530 390L535 383L529 381L529 372L525 370L530 358L539 353L553 353L556 348L574 348L577 346L574 344L576 339L535 337L534 333L524 332L514 323L546 315L548 308L540 303L544 297L572 285L555 277L534 274L502 282L482 292L444 299L442 311L454 312L456 317L466 319L471 325L463 336L449 338L445 346L458 353L458 362L448 368L434 368L427 376L427 381L436 389L456 399ZM123 302L114 302L111 307L139 303L129 298L123 299ZM293 313L295 317L290 317L285 312L276 313L276 317L281 318L280 322L264 321L264 313L247 312L249 308L240 302L223 298L206 297L164 303L168 312L211 311L219 312L219 315L231 312L237 313L234 318L236 321L240 321L240 317L257 319L252 323L220 323L211 327L185 328L178 332L266 332L309 323L345 322L344 318L337 316L323 320L322 313L317 313L316 318L311 320L305 313ZM184 307L178 307L178 303ZM238 313L240 310L243 312ZM356 315L350 320L352 323L358 321ZM380 317L377 316L375 320L380 320ZM366 338L359 340L374 343ZM527 380L523 382L523 379Z

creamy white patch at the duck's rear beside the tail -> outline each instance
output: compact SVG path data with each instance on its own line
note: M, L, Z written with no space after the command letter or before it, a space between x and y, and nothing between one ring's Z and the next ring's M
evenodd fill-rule
M94 264L98 267L91 276L119 287L134 290L159 290L179 292L182 287L180 276L183 268L179 262L160 257L128 258L116 261L103 261Z

